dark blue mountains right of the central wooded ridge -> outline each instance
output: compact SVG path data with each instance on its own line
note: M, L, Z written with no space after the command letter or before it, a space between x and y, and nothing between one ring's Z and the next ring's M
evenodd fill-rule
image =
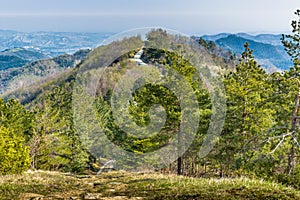
M246 33L221 33L201 37L208 41L214 41L218 46L237 55L242 54L244 44L248 42L250 49L254 50L253 55L258 63L269 72L287 70L293 66L281 44L281 35L261 34L253 36Z

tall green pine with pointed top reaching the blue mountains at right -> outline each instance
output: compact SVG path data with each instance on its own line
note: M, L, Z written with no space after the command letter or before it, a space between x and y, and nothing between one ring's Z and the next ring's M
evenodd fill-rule
M236 71L225 77L228 111L218 156L222 170L233 167L253 171L260 160L257 145L272 127L275 114L268 104L272 87L267 80L268 74L246 43Z

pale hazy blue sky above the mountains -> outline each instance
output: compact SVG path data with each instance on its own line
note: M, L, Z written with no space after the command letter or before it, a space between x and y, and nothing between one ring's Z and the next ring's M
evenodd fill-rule
M187 34L282 33L299 0L0 0L0 29L120 32L166 27Z

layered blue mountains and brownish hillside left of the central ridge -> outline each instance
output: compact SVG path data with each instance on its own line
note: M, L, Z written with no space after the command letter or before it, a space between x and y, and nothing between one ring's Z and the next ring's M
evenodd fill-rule
M75 67L111 34L0 30L0 94Z

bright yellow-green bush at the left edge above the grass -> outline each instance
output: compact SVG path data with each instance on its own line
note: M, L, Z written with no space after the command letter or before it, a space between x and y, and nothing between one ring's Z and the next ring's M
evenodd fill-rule
M18 174L28 169L30 154L24 138L12 130L0 127L0 174Z

